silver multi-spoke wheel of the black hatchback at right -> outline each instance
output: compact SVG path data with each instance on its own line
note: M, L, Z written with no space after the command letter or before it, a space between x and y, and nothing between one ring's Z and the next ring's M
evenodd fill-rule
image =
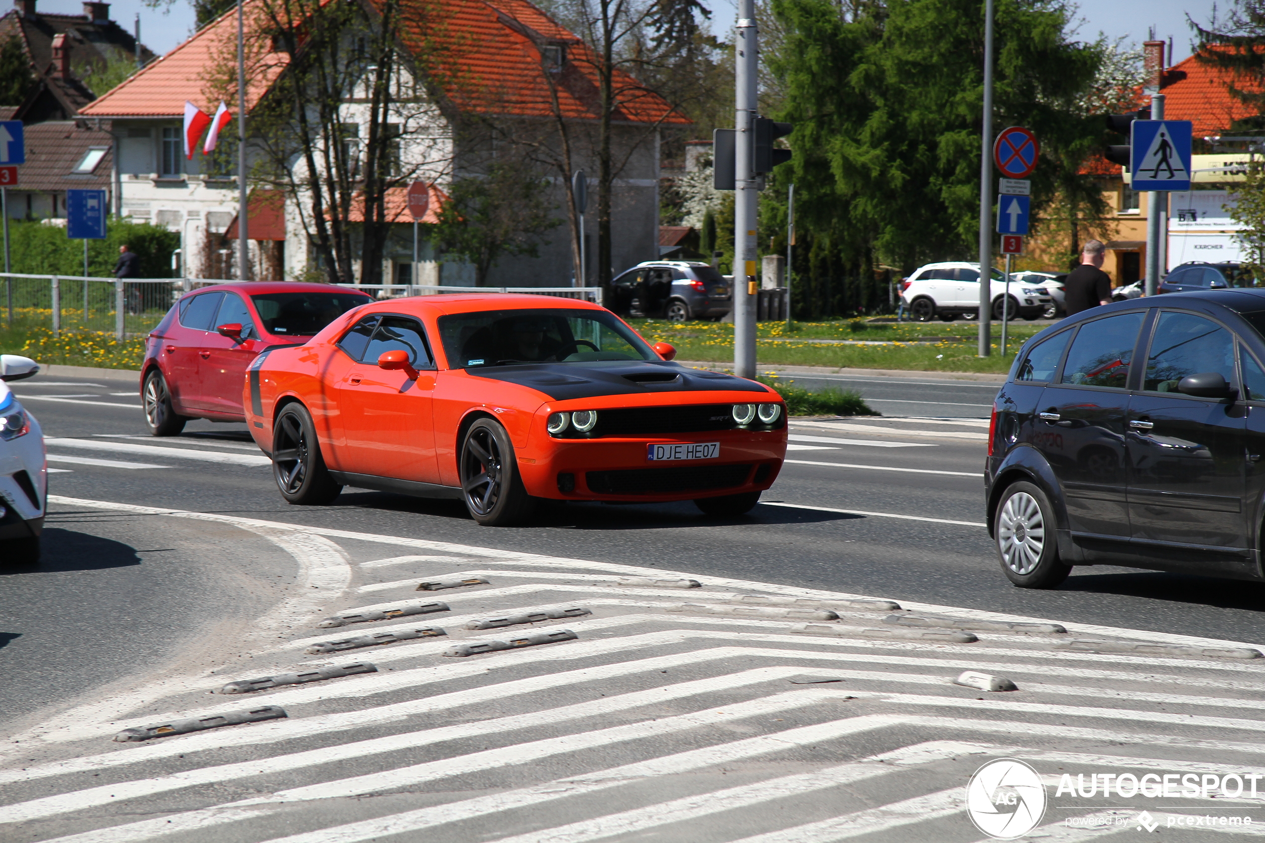
M1054 507L1036 484L1021 480L997 502L993 540L1006 579L1020 588L1058 588L1071 573L1059 557Z

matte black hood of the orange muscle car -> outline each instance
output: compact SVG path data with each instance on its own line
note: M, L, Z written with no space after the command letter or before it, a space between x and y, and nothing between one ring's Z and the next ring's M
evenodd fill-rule
M641 396L657 392L758 392L768 391L745 378L720 372L687 369L677 363L629 360L627 363L530 363L524 365L479 367L467 374L490 380L506 380L554 401L600 398L602 396Z

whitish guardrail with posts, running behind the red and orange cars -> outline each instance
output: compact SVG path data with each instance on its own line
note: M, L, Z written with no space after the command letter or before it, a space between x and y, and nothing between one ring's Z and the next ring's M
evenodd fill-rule
M0 272L0 278L5 282L5 318L6 325L13 327L14 312L16 310L35 310L44 311L48 310L48 322L53 330L54 336L59 336L62 331L62 313L63 305L68 305L71 297L78 298L80 291L66 289L66 282L77 282L76 286L82 284L82 298L83 310L81 311L81 321L83 325L89 325L92 318L92 303L96 302L97 312L102 316L114 317L114 335L116 339L121 340L128 334L129 318L133 322L143 320L145 316L145 310L148 305L161 306L163 313L171 307L168 302L156 301L162 300L161 296L156 297L153 294L145 294L144 287L152 284L166 284L171 288L173 298L178 298L175 293L188 293L200 287L207 287L210 284L240 284L244 283L233 278L96 278L92 276L35 276L28 273L18 272ZM37 284L34 288L29 283L20 284L20 289L15 289L14 282L47 282L44 284ZM94 287L95 284L111 284L113 296L102 296L101 287ZM405 298L410 296L434 296L438 293L531 293L536 296L555 296L560 298L579 298L582 301L589 301L597 305L602 303L602 288L601 287L452 287L452 286L436 286L436 284L335 284L338 287L347 287L349 289L359 289L374 298ZM152 287L151 287L152 288ZM95 294L94 294L95 293ZM23 301L14 302L15 296ZM76 305L78 302L76 301ZM73 305L68 305L73 307ZM153 315L151 315L153 316ZM158 318L162 318L158 315ZM157 322L154 322L157 324ZM132 327L139 327L139 331L133 332L145 332L149 331L153 325L140 326L133 325Z

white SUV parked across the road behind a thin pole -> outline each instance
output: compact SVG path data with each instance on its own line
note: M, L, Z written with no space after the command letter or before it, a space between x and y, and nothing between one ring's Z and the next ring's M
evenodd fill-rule
M992 278L992 317L1002 318L1006 277L993 269ZM1041 318L1054 305L1050 292L1045 287L1016 281L1013 273L1011 278L1011 318ZM901 302L920 322L929 322L936 316L946 322L959 316L974 318L979 316L979 264L950 260L920 267L901 286Z

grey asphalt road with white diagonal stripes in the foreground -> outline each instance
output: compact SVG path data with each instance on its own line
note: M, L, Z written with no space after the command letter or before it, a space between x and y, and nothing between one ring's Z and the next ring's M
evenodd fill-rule
M290 834L299 835L296 842L369 840L417 834L436 823L455 822L454 816L477 814L481 819L471 819L472 825L445 828L434 839L460 843L514 833L522 840L541 842L606 837L670 843L732 840L796 823L811 825L820 818L821 823L842 823L839 828L882 830L882 839L893 843L911 839L911 823L935 820L935 839L966 843L979 839L961 814L963 784L978 766L979 756L973 758L972 753L1020 752L1007 748L1007 742L1015 741L1027 742L1021 757L1046 752L1059 744L1051 736L1065 733L1069 720L1093 723L1097 729L1078 732L1074 739L1080 743L1075 746L1059 744L1060 752L1082 752L1074 757L1083 763L1090 763L1083 755L1088 748L1118 746L1133 753L1130 765L1159 765L1161 761L1141 756L1169 734L1176 741L1174 747L1180 743L1187 748L1174 748L1170 757L1176 761L1163 763L1219 758L1222 744L1190 742L1189 729L1194 729L1190 736L1202 737L1199 729L1232 728L1243 741L1254 739L1256 725L1242 718L1259 717L1257 691L1265 689L1265 681L1255 681L1260 674L1255 664L1054 653L1050 642L1040 637L989 637L983 632L978 646L813 643L774 634L786 632L787 626L772 621L665 616L663 612L670 609L664 607L688 600L689 593L673 593L653 579L605 591L615 599L595 598L610 583L591 584L621 571L651 578L655 570L687 571L706 580L698 594L707 595L707 602L724 598L719 594L722 589L779 595L773 599L853 594L897 600L915 612L930 608L974 618L999 613L1052 619L1069 627L1082 624L1095 634L1141 641L1180 636L1259 640L1265 590L1255 584L1087 567L1054 591L1012 588L997 570L982 526L984 416L993 387L903 378L859 383L875 403L934 403L921 412L884 409L880 418L796 421L783 473L750 516L708 518L688 503L563 504L546 508L530 526L500 530L478 527L452 502L359 490L345 490L328 507L290 507L277 494L267 460L242 425L195 422L180 437L154 440L145 435L130 383L42 375L14 384L48 437L49 465L57 469L51 475L51 494L57 499L51 506L47 560L33 569L3 573L0 676L10 681L0 682L0 729L14 737L0 746L0 756L9 760L9 767L0 770L0 785L6 789L0 823L5 810L29 819L10 827L5 839L132 843L178 833L182 840L242 843ZM941 415L947 406L969 407L973 402L985 409L977 406L975 412ZM185 512L162 514L168 508ZM285 525L305 526L310 532L281 530ZM324 662L373 658L379 674L371 679L252 695L249 701L207 694L224 679L321 664L320 657L299 655L296 647L361 632L315 629L312 618L321 612L364 612L398 605L400 600L416 602L419 575L466 571L473 576L488 569L491 585L453 591L452 597L449 591L421 597L452 604L457 616L444 623L455 642L486 634L463 632L467 618L495 617L550 599L589 600L592 618L565 623L579 631L583 646L597 655L577 662L577 653L586 650L533 648L490 653L483 661L436 660L449 638L374 647L366 655L353 651L342 661ZM344 604L326 605L335 599L326 599L326 593L345 595L338 598ZM562 628L560 623L535 629L549 632ZM366 632L407 624L369 626ZM708 656L713 647L721 650ZM741 647L756 647L764 656L735 656ZM650 669L649 661L621 661L626 658L665 661ZM737 661L717 674L700 666L698 660L706 658ZM767 667L760 658L779 661ZM864 662L870 665L867 671L889 675L845 670L834 679L803 679L793 675L808 669L796 666L801 662L812 670ZM983 691L947 684L946 676L951 679L964 666L1009 674L1027 695L1015 698L1022 701L999 700L993 707L992 698L980 696ZM735 682L748 681L740 679L746 676L743 669L774 671L758 677L765 682L760 686L765 696L753 700L737 693ZM644 670L650 670L648 677L635 676ZM799 688L794 685L799 681L810 686L817 681L851 684L807 691L818 694L810 705L796 701L805 699L806 691L787 690ZM357 690L362 686L357 682L366 690ZM520 682L525 684L521 691L516 690ZM907 689L912 695L893 693L893 682L912 682ZM708 695L686 705L681 700L689 694L702 694L691 690L696 685L706 686ZM621 703L625 698L629 701ZM288 719L163 738L137 748L108 743L120 727L163 723L162 718L172 717L170 712L214 713L252 704L285 704ZM621 713L639 705L649 708L636 715ZM1202 705L1213 709L1208 713ZM405 714L390 714L398 707ZM796 707L802 710L783 714ZM1240 719L1218 719L1226 707L1231 714L1243 709ZM845 715L845 708L846 717L858 722L873 714L903 725L882 737L825 739L842 734L839 729L861 728L831 719ZM964 708L978 709L969 712L973 719L955 714ZM923 710L937 712L935 723L915 717ZM1187 720L1173 719L1194 715L1202 719L1190 720L1189 728ZM593 725L574 727L581 731L572 734L567 717L589 717ZM487 718L501 719L484 725ZM748 719L739 723L732 718ZM1112 731L1122 719L1135 731ZM352 724L358 731L348 732ZM811 746L772 765L736 762L744 757L732 755L740 752L740 744L759 739L750 736L792 727L807 729L808 737L797 739ZM528 731L522 737L509 737L519 734L515 729ZM640 729L643 737L627 743L620 729ZM988 733L989 743L942 741L963 731ZM455 737L441 737L449 733ZM452 744L455 748L416 748L426 741L458 738ZM564 763L546 753L562 752L550 749L550 742L559 741L559 747L608 748L568 756ZM708 748L717 741L722 742L719 748ZM770 746L799 746L787 741L778 737ZM1225 744L1226 751L1259 757L1259 746L1243 741ZM407 751L409 746L415 749ZM181 747L190 748L188 760ZM497 755L501 749L496 747L507 755ZM636 766L645 753L683 757L692 747L712 753L707 757L713 761L732 758L735 763L705 776L686 775L684 761L655 761L660 765L655 770L681 775L663 782L665 787L639 784L640 790L620 795L622 801L588 798L589 803L557 814L525 808L522 818L488 818L493 808L502 811L511 803L529 805L534 804L530 800L554 799L552 794L582 794L602 781L567 779L576 771L632 765L629 771L641 772L629 776L651 775ZM1213 747L1217 752L1209 752ZM721 751L731 755L715 755ZM908 763L939 760L942 765L934 776L913 782L902 779L894 790L845 786L849 776L861 775L858 770L889 770L906 763L901 758L912 758ZM1073 756L1050 761L1050 771L1068 758ZM888 760L897 763L888 765ZM528 768L514 767L529 762ZM1099 758L1093 763L1120 762ZM817 771L829 772L822 768L827 763L842 766L813 779ZM302 765L311 770L297 772ZM272 777L252 779L264 775L263 767L273 771L268 773ZM90 772L94 770L99 772ZM520 770L526 772L516 772ZM778 787L788 790L764 789L764 779L778 771L793 773L775 780L782 782ZM455 775L466 777L435 787L419 784L430 781L428 776ZM557 779L544 781L550 777ZM120 784L115 787L113 782ZM197 782L205 786L187 790ZM803 790L826 785L839 789L830 791L830 798ZM180 787L186 790L168 792ZM736 801L717 801L712 791ZM779 792L791 799L783 803L782 813L759 809L760 800ZM254 809L243 814L234 800L247 800L240 804ZM663 800L677 801L660 808ZM492 803L493 808L478 809L484 813L476 811L477 805ZM639 806L646 803L651 804ZM725 805L736 808L722 823L707 820L708 811L727 810ZM1102 806L1078 810L1089 808ZM593 824L595 814L612 810L614 825L603 824L607 820ZM837 816L840 811L850 813ZM247 814L247 825L226 830L219 825ZM94 830L102 823L111 827L108 833ZM344 830L331 832L339 823L347 824L339 825ZM565 834L550 830L560 823L572 823ZM662 830L663 823L676 824ZM767 839L842 839L829 828L810 825L777 830L781 837ZM314 837L302 835L309 833Z

